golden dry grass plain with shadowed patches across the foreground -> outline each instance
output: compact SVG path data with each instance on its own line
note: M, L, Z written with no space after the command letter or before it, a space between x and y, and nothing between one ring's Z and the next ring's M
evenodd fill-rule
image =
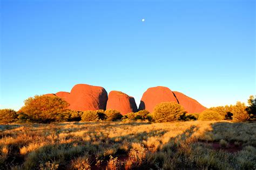
M0 125L0 169L256 169L256 123Z

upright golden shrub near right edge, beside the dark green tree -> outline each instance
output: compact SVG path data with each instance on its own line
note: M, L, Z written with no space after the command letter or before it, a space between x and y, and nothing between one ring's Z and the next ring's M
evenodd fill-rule
M237 102L237 104L231 105L231 111L234 122L245 122L250 118L245 103Z

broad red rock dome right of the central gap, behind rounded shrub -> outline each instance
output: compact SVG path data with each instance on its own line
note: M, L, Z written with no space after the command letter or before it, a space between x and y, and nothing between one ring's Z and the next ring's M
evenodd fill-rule
M177 102L172 90L167 87L157 86L148 88L140 100L139 110L148 110L152 112L154 107L161 102Z

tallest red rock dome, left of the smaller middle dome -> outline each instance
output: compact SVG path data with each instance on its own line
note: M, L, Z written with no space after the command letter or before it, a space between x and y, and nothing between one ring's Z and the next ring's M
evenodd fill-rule
M107 92L103 87L76 84L68 96L69 109L77 111L106 109Z

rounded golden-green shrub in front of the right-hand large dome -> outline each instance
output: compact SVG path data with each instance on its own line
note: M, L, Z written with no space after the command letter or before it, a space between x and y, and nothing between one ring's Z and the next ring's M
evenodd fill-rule
M154 107L153 118L156 122L178 121L184 115L184 108L175 102L159 103Z

